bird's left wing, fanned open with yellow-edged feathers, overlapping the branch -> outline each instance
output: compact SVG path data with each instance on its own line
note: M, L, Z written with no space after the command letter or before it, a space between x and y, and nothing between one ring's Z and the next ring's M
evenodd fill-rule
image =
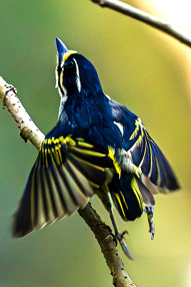
M15 214L13 235L23 237L84 208L111 167L109 150L81 138L45 139Z

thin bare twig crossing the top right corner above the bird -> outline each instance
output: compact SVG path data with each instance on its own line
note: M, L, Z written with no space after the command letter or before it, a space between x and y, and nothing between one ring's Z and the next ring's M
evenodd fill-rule
M134 19L142 21L152 27L155 27L169 34L179 42L191 48L191 36L188 33L185 33L179 28L173 26L168 21L162 20L158 17L155 17L151 14L148 14L144 11L141 11L118 0L91 0L91 1L97 3L101 7L108 7L122 14L128 15Z

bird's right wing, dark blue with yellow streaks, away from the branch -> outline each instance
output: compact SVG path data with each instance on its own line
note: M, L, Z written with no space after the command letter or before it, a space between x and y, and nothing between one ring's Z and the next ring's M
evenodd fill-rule
M179 188L178 180L164 154L150 137L141 119L125 106L109 100L115 121L123 127L119 166L138 179L152 193L167 193ZM140 181L138 186L143 190ZM142 191L145 195L145 191ZM148 194L146 195L148 198Z

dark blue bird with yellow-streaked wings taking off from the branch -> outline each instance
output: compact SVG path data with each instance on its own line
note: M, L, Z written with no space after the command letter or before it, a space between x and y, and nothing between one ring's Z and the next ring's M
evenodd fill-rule
M130 257L127 231L119 231L113 208L124 221L146 212L153 239L153 195L179 189L178 179L140 117L103 92L94 65L58 37L56 47L58 121L38 151L14 215L13 236L72 215L97 194Z

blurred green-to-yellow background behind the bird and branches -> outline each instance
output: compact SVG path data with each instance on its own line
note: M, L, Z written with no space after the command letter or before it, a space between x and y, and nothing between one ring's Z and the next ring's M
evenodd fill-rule
M128 1L152 12L149 2L139 2ZM154 241L146 215L125 223L115 213L119 228L129 231L134 261L118 248L126 270L138 287L191 286L191 50L89 0L0 2L0 75L17 88L44 133L56 124L59 108L55 36L85 55L103 90L141 117L182 186L155 197ZM113 286L100 247L78 214L22 239L11 237L12 214L37 151L20 138L6 108L0 125L0 286ZM91 202L111 225L99 200Z

